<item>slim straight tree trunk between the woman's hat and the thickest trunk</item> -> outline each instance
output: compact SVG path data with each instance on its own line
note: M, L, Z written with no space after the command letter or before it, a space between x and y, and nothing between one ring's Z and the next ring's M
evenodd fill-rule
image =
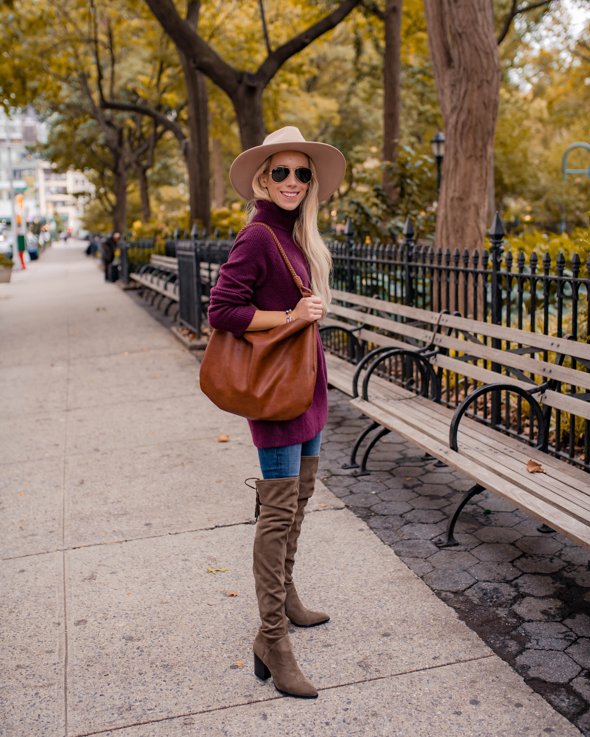
M400 141L401 17L403 0L387 0L385 5L385 58L383 60L383 161L392 167L398 158ZM383 169L383 189L390 200L399 197L399 187L389 167Z

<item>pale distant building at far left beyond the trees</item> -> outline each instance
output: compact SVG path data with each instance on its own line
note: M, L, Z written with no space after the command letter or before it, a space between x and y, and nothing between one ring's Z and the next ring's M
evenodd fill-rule
M39 122L29 105L27 110L8 117L0 108L0 220L10 223L13 195L24 195L24 217L27 223L35 218L46 222L58 213L66 228L77 234L88 195L94 191L83 172L58 174L51 162L40 161L27 151L27 146L47 139L46 124Z

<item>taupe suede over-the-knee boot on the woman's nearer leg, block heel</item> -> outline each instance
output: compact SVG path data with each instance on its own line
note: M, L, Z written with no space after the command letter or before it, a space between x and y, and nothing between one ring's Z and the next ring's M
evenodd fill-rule
M260 515L254 537L254 582L260 629L254 638L254 673L272 675L279 691L315 699L316 688L295 660L285 619L285 553L299 496L299 476L256 481Z

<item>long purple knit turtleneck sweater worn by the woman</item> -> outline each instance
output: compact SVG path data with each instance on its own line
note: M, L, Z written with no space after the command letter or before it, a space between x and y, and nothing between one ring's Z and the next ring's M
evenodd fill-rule
M273 229L295 272L304 286L309 287L308 262L293 240L299 208L284 210L263 200L258 200L256 206L257 213L252 222L266 223ZM219 270L216 286L211 290L209 324L239 338L254 317L255 310L249 307L249 302L259 310L293 310L299 299L301 294L271 234L266 228L244 228L235 240L228 262ZM249 420L248 423L257 448L274 448L311 440L322 430L326 420L327 372L318 332L316 389L308 411L281 422Z

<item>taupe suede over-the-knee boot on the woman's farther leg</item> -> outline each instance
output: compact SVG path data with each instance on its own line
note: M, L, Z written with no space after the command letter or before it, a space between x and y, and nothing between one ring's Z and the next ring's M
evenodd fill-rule
M297 540L301 532L301 524L305 516L305 505L308 503L316 486L319 455L302 455L299 469L299 497L297 509L287 538L285 555L285 614L298 627L313 627L327 622L330 617L324 612L312 612L306 609L297 595L293 582L293 566L297 552Z

